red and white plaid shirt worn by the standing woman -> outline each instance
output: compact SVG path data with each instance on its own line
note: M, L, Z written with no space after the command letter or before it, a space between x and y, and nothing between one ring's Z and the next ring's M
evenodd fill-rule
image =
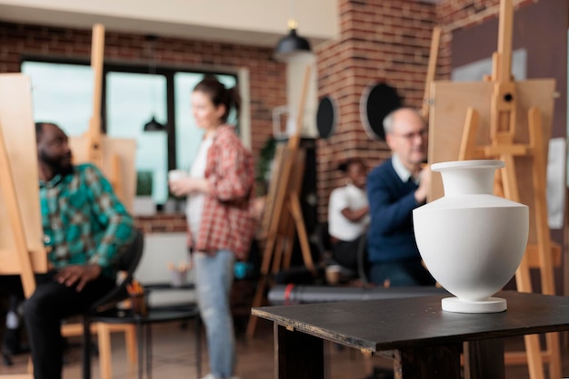
M227 249L237 259L247 258L255 231L254 178L251 152L233 127L220 126L207 151L205 179L210 193L205 197L195 250L213 253Z

